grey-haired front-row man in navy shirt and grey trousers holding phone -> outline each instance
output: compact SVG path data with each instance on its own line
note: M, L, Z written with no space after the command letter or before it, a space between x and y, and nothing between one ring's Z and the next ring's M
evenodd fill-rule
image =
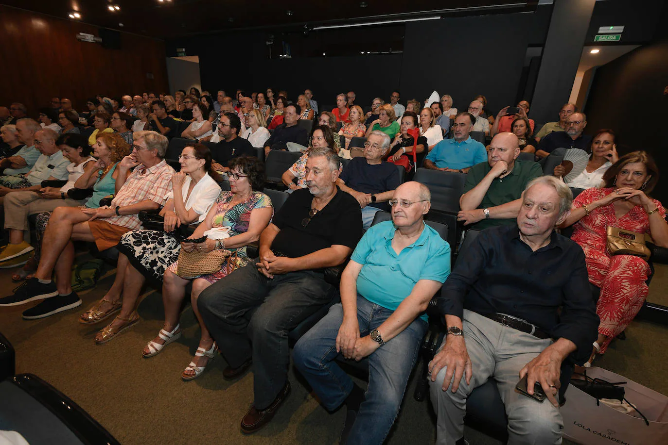
M571 203L555 177L533 179L517 226L483 230L460 253L438 299L446 340L429 364L437 444L465 443L466 399L489 378L506 406L508 444L561 444L560 373L587 361L599 326L585 254L554 232ZM516 392L524 376L528 393L536 382L549 402Z

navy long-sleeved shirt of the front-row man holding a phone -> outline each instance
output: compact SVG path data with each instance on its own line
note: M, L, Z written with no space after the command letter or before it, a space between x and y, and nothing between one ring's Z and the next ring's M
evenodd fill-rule
M521 318L577 346L585 362L596 340L599 316L589 289L585 253L572 240L552 232L550 244L532 252L515 226L488 228L460 252L438 297L444 316L478 314ZM559 308L561 312L559 313Z

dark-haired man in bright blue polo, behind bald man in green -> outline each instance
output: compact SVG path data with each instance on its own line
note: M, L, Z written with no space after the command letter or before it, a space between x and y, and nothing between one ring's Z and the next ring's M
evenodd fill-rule
M487 159L485 146L469 135L475 122L471 113L459 113L453 126L454 137L437 143L424 159L424 167L466 173L472 165L484 162Z

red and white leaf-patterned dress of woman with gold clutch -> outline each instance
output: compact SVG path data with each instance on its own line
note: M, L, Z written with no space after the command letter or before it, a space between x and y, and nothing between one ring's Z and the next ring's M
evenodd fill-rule
M577 209L609 195L613 188L596 188L582 191L573 201L572 208ZM652 199L659 208L661 217L666 213L661 202ZM611 256L606 250L608 226L631 230L639 234L649 233L649 221L645 209L636 205L626 215L617 219L612 203L603 205L582 217L573 226L570 237L585 251L589 282L601 288L601 296L596 313L601 318L599 334L608 337L601 345L601 354L605 352L611 340L619 335L631 323L643 306L649 289L647 277L651 273L649 264L640 257L632 255Z

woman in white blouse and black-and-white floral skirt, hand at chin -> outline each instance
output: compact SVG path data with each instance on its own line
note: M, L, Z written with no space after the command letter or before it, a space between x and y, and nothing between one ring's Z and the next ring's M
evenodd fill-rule
M220 195L220 186L216 183L218 174L212 171L211 161L211 151L206 145L194 143L184 147L179 156L181 171L172 175L172 192L165 197L166 203L160 211L164 230L133 230L121 238L114 284L100 302L79 318L83 324L93 324L120 310L120 314L98 332L97 344L112 340L139 321L136 306L144 282L148 279L162 284L166 268L178 258L180 242L170 233L180 226L203 221Z

